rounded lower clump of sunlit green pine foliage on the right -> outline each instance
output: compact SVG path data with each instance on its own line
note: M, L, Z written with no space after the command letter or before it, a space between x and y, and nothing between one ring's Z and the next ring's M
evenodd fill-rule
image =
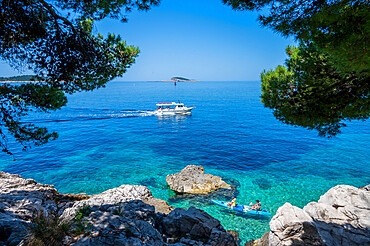
M288 47L285 66L263 72L262 102L277 119L335 136L344 120L370 116L366 78L343 75L314 45Z

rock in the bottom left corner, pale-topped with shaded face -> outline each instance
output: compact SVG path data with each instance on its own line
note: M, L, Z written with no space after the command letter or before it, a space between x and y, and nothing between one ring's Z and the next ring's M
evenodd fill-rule
M30 232L35 218L56 218L60 207L86 196L61 194L52 185L0 172L0 245L19 244Z

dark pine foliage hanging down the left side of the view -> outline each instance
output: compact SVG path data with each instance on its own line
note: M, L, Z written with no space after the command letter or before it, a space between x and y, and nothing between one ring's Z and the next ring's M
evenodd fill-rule
M25 148L55 138L45 128L21 124L29 110L55 110L67 103L65 93L88 91L122 76L139 49L118 35L93 34L95 20L126 21L133 8L147 10L159 0L2 0L0 58L11 66L31 69L39 84L0 87L0 145L6 131ZM74 18L71 18L73 12ZM63 13L63 14L62 14Z

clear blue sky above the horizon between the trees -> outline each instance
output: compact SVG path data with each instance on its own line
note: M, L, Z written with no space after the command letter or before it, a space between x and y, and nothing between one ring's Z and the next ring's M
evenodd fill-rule
M236 12L221 0L162 0L128 18L128 23L104 20L94 29L140 47L136 63L116 80L259 80L263 69L284 63L286 46L294 44L261 27L255 12ZM0 63L0 76L18 74Z

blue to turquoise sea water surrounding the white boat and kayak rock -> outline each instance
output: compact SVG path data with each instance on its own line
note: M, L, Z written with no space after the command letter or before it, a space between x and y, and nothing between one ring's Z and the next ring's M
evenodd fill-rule
M196 106L191 116L152 115L156 102L178 100ZM209 197L173 197L166 175L202 165L237 185L238 203L259 199L273 214L285 202L302 208L338 184L370 183L369 121L348 122L335 138L318 137L276 120L260 101L257 81L110 82L25 122L57 131L59 138L28 152L12 149L15 160L1 154L0 170L64 193L145 185L173 206L205 210L243 241L261 237L271 217L231 213Z

